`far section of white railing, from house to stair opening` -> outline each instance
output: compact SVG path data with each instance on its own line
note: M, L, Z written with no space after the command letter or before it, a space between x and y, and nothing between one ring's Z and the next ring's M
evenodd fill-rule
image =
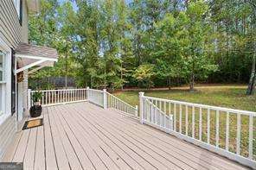
M34 104L32 97L35 92L38 91L28 91L29 108ZM133 107L131 104L125 103L123 100L107 92L106 89L100 91L87 87L86 89L45 90L39 92L42 92L42 98L40 99L42 106L89 101L104 109L112 108L130 116L138 117L138 106Z

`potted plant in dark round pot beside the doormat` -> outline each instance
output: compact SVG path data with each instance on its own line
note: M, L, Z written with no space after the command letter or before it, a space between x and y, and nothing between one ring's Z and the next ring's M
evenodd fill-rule
M29 109L31 117L41 116L42 114L42 105L40 104L40 99L42 98L41 91L35 91L32 94L33 106Z

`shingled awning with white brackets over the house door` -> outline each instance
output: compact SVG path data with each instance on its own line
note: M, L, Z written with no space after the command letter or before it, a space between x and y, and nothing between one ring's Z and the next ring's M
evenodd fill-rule
M54 62L58 60L56 49L26 43L20 43L16 47L15 56L19 66L16 69L16 73L33 67L32 70L29 70L29 73L32 73L44 66L54 66Z

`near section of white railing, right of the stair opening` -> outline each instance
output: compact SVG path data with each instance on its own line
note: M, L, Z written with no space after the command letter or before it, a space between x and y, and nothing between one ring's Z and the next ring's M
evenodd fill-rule
M256 112L145 97L143 92L139 99L141 123L256 168Z

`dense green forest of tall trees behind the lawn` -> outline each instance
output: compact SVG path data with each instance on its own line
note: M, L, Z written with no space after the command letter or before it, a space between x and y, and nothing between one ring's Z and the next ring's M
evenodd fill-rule
M29 41L59 61L33 75L120 89L256 83L253 0L42 0Z

